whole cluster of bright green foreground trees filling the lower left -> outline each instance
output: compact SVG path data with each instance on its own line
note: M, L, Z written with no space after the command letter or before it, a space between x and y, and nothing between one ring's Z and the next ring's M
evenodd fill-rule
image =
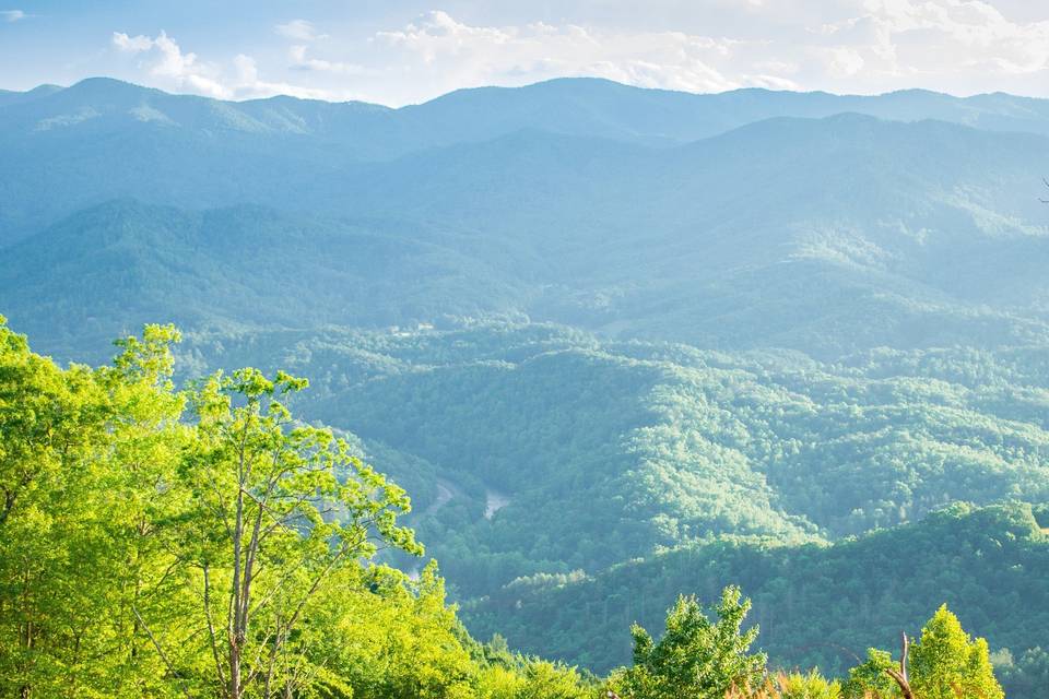
M575 670L484 650L417 580L402 489L287 406L306 381L173 388L172 327L58 367L0 319L0 694L582 699ZM190 411L185 413L189 406Z

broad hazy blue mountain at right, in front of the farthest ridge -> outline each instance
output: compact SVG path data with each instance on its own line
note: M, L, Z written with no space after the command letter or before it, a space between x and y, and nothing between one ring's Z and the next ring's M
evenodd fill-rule
M378 166L362 187L380 215L534 246L550 285L535 316L811 352L973 340L959 325L982 343L1013 332L1001 313L1044 308L1032 173L1047 161L1042 137L845 115L662 150L519 132Z

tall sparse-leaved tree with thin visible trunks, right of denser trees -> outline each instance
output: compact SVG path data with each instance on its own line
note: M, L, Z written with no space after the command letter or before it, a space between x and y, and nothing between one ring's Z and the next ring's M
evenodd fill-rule
M195 506L182 557L199 571L200 624L228 699L303 691L316 672L298 631L333 573L380 547L422 553L397 523L410 509L404 491L330 430L292 418L286 400L306 386L248 368L190 394L197 425L182 478Z

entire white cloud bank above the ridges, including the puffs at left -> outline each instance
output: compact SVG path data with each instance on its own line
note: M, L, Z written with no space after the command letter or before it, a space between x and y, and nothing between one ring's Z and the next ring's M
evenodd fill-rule
M625 1L565 0L558 16L567 19L556 23L539 10L514 23L431 10L368 34L291 20L274 26L287 45L247 51L250 70L248 56L205 61L164 33L115 34L114 45L137 56L158 86L224 97L283 91L399 105L459 87L575 75L691 92L930 87L1049 96L1049 8L1017 19L992 4L1004 1L650 0L641 13Z

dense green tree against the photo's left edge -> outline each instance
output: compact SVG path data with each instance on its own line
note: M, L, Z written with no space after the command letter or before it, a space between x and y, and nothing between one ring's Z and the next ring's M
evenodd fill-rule
M60 696L78 682L71 649L90 631L78 612L95 611L98 601L82 576L97 572L102 550L87 498L105 423L92 371L63 370L33 354L0 317L0 682L7 696Z

